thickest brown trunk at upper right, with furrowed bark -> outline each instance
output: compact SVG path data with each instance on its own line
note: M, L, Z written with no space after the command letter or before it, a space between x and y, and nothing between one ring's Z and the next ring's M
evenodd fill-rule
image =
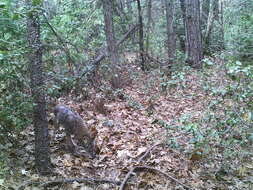
M185 10L187 61L192 67L201 68L203 48L200 31L199 0L185 0Z

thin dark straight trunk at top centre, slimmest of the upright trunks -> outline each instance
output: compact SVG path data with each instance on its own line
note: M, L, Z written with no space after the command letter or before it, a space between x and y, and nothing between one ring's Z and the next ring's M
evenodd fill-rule
M144 58L144 38L143 38L143 19L141 14L141 3L140 0L137 0L138 8L138 19L139 19L139 47L140 47L140 56L141 56L141 69L145 71L145 58Z

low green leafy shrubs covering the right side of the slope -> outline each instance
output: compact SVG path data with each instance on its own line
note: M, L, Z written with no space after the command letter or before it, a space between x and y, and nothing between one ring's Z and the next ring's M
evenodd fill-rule
M205 64L199 73L207 98L201 116L187 113L170 122L155 119L153 124L166 129L171 148L192 161L215 164L218 180L228 174L241 178L238 168L245 168L253 156L253 67L239 61L218 65L206 59ZM188 144L182 146L186 137Z

